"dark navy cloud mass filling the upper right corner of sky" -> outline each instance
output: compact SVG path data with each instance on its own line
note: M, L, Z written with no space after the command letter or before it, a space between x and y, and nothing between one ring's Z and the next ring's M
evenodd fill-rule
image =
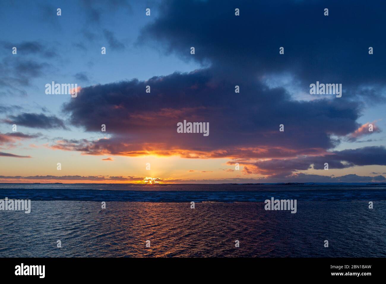
M381 0L366 7L341 1L169 0L159 18L144 27L139 43L154 42L166 53L211 64L233 79L289 73L304 92L316 81L342 83L342 100L384 102L385 39L377 27L386 24L385 8Z

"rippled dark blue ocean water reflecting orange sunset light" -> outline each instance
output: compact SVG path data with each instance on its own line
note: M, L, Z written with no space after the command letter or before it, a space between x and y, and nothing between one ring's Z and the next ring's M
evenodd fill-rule
M0 211L0 257L386 257L385 185L1 184L5 197L32 208ZM296 214L265 210L271 197Z

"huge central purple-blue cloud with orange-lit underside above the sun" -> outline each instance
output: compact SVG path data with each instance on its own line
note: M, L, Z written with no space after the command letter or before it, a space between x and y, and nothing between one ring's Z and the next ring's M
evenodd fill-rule
M236 84L209 69L96 85L82 88L80 99L65 104L64 112L75 126L99 132L105 124L112 134L76 148L114 155L157 149L196 158L293 157L334 148L339 141L332 134L345 136L358 128L354 102L293 101L284 89L267 89L259 82L243 85L238 95ZM151 93L145 92L147 85ZM177 133L184 119L209 122L209 136Z

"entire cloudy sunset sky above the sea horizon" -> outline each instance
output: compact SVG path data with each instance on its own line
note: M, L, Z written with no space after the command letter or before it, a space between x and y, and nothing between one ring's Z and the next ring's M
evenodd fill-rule
M386 182L385 8L3 1L0 182Z

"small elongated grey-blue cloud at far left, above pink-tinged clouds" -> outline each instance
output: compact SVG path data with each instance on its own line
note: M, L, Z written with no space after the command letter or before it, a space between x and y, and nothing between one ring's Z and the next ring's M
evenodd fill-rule
M46 116L45 114L35 114L23 112L17 116L8 116L4 122L16 125L27 126L30 128L44 128L44 129L66 129L63 120L56 116Z

